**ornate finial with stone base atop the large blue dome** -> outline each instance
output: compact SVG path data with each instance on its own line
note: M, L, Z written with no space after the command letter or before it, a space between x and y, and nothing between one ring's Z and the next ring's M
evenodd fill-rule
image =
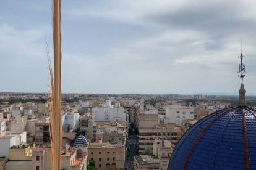
M243 84L243 80L244 80L244 73L245 73L245 65L244 63L242 63L242 59L245 56L242 55L242 39L241 39L241 55L239 56L239 58L241 59L241 64L239 65L239 71L238 73L241 73L240 78L242 79L242 83L239 89L239 106L246 106L246 100L245 100L245 94L246 94L246 90L244 89L244 84Z

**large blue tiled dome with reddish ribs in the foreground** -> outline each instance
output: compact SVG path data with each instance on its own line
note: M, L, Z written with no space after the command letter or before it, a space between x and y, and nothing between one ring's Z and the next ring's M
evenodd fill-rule
M256 169L255 115L244 106L201 119L174 148L168 169Z

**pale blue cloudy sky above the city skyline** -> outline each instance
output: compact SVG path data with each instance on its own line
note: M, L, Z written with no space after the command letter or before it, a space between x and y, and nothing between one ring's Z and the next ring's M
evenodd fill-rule
M62 0L62 92L256 92L255 1ZM0 92L47 92L51 1L0 6Z

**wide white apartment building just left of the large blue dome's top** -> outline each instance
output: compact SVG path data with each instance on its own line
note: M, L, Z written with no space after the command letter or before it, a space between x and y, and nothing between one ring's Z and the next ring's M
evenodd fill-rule
M165 123L181 124L184 119L194 119L194 107L185 107L181 105L167 105Z

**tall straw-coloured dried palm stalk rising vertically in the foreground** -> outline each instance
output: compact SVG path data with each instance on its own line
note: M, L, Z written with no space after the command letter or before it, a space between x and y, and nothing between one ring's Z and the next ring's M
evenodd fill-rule
M61 0L53 0L54 46L54 170L61 169Z

